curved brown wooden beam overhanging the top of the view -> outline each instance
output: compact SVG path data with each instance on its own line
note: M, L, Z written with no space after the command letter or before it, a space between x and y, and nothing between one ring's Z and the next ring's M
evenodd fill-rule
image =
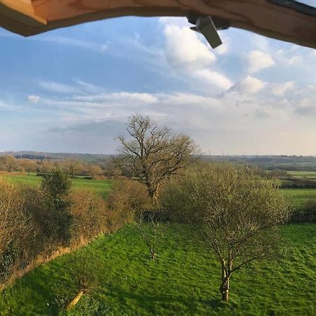
M231 27L316 48L316 9L291 0L0 0L0 26L25 37L126 15L211 15Z

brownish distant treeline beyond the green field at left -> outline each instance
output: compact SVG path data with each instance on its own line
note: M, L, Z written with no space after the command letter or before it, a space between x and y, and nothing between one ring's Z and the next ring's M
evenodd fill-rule
M56 167L72 178L75 176L105 178L112 177L115 173L111 159L100 162L83 162L76 159L30 159L10 155L0 156L0 171L41 174Z

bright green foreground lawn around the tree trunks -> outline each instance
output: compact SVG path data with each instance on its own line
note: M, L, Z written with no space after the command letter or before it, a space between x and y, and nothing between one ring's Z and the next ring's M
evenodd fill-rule
M216 258L185 225L169 225L155 261L128 225L18 279L0 295L0 315L316 315L316 225L285 225L282 236L287 258L236 272L225 304ZM84 254L98 286L66 313L55 298L65 289L76 294L72 280Z

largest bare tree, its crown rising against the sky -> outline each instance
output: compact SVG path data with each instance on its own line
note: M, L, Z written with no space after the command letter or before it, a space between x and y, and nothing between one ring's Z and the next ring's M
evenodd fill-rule
M127 132L131 140L119 136L121 156L117 165L124 176L136 178L147 187L154 205L163 183L196 158L196 145L183 134L173 134L168 127L159 128L149 117L129 117Z

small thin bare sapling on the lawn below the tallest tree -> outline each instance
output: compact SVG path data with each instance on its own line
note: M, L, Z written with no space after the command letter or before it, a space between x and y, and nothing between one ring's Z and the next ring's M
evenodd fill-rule
M168 223L162 223L156 211L140 211L136 215L136 226L150 251L152 260L156 258L159 242L164 238Z

